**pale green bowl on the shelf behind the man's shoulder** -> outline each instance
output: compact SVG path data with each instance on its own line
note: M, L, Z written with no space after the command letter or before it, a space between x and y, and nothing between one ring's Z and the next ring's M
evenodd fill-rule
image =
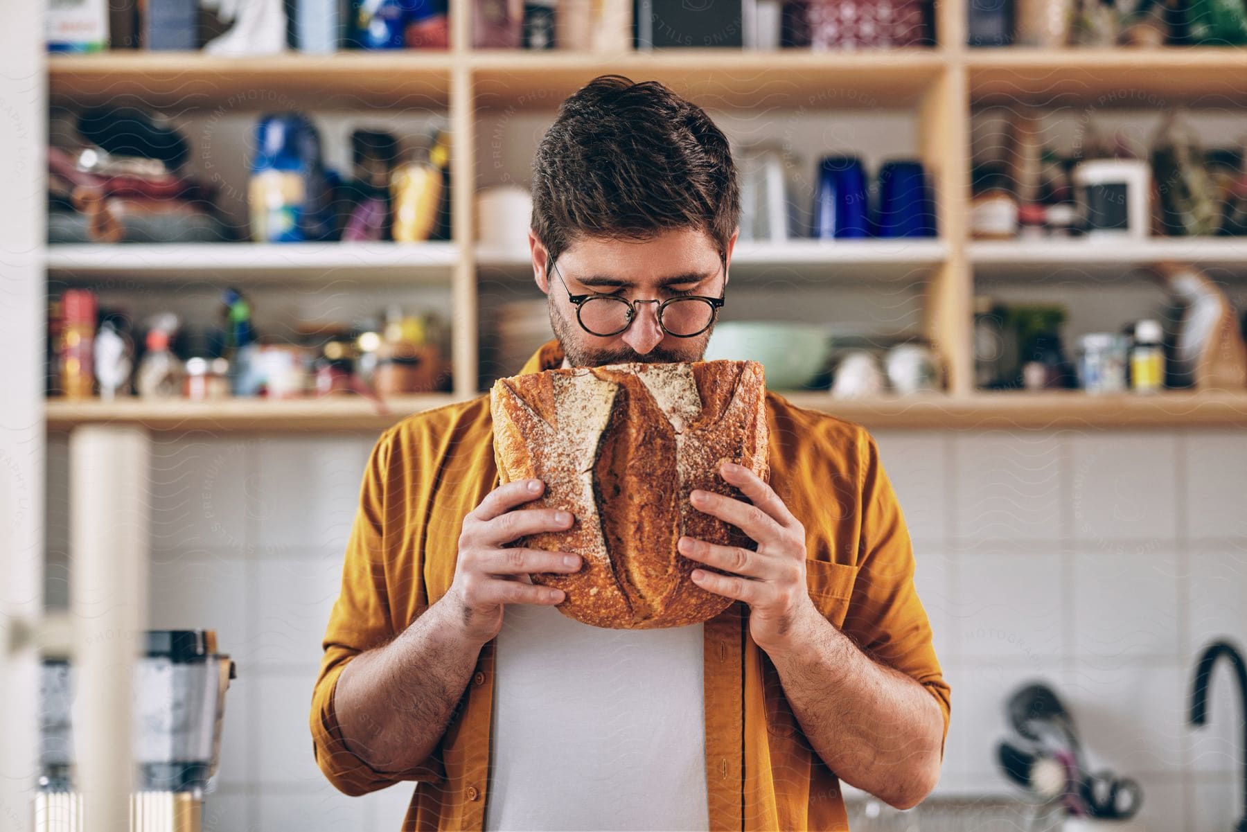
M729 321L711 333L706 360L756 360L767 372L767 389L808 387L827 367L827 328L783 321Z

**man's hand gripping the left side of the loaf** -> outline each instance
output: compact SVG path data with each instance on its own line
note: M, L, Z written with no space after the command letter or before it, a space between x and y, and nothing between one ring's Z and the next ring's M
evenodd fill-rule
M504 545L525 535L571 528L575 518L570 511L513 510L541 496L544 490L545 484L539 479L508 483L490 491L464 518L455 576L443 600L450 601L454 622L474 642L484 645L498 635L506 604L554 605L562 601L561 590L524 583L521 575L580 569L579 555Z

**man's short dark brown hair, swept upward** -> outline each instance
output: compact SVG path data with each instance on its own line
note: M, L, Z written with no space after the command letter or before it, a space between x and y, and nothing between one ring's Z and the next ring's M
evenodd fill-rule
M722 256L739 212L727 137L658 81L594 79L562 102L532 160L532 231L551 259L581 237L683 227Z

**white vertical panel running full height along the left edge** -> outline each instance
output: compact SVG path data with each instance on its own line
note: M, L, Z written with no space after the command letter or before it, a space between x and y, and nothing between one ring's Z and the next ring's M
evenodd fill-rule
M44 606L42 2L5 2L0 34L0 830L34 825Z

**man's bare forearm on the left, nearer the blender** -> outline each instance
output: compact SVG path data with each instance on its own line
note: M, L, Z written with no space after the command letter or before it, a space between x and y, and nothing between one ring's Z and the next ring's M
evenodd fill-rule
M384 772L409 770L436 747L481 645L433 604L389 644L359 654L338 677L334 712L347 747Z

